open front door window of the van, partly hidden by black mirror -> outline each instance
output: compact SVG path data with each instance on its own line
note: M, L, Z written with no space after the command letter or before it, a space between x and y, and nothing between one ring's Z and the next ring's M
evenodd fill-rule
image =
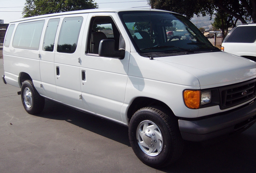
M99 43L103 39L114 39L115 50L125 48L124 40L122 39L119 30L110 16L93 17L91 19L89 31L86 53L98 54Z

